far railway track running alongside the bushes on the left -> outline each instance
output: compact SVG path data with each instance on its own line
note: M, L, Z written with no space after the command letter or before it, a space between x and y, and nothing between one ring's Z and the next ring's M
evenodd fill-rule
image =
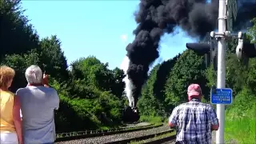
M88 130L88 131L80 131L74 133L62 133L57 134L57 138L55 142L65 142L74 139L81 139L81 138L94 138L99 136L111 135L111 134L121 134L121 133L128 133L138 130L148 130L163 126L163 124L158 125L147 125L147 126L133 126L133 127L123 127L120 129L112 129L112 130Z

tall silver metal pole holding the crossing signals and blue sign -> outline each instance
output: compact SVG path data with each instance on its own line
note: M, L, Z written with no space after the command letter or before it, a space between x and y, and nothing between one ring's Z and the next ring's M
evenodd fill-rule
M218 7L218 33L224 34L226 31L226 0L219 0ZM218 40L218 79L217 88L225 88L226 85L226 42L225 37ZM225 105L217 105L217 117L219 128L216 131L216 144L224 144L225 127Z

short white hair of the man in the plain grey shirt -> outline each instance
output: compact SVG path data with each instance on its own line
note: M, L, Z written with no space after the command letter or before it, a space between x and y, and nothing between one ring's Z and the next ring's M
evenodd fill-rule
M42 70L39 66L32 65L26 69L26 81L30 84L42 83Z

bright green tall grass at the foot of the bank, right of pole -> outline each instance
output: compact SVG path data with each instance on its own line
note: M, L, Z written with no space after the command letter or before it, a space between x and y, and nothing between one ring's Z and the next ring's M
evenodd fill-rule
M233 140L239 144L256 144L256 104L244 114L238 115L235 110L226 113L225 140L227 143Z

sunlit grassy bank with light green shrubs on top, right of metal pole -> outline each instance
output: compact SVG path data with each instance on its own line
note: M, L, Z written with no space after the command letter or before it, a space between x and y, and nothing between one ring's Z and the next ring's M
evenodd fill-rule
M256 144L256 96L242 90L226 110L226 143Z

